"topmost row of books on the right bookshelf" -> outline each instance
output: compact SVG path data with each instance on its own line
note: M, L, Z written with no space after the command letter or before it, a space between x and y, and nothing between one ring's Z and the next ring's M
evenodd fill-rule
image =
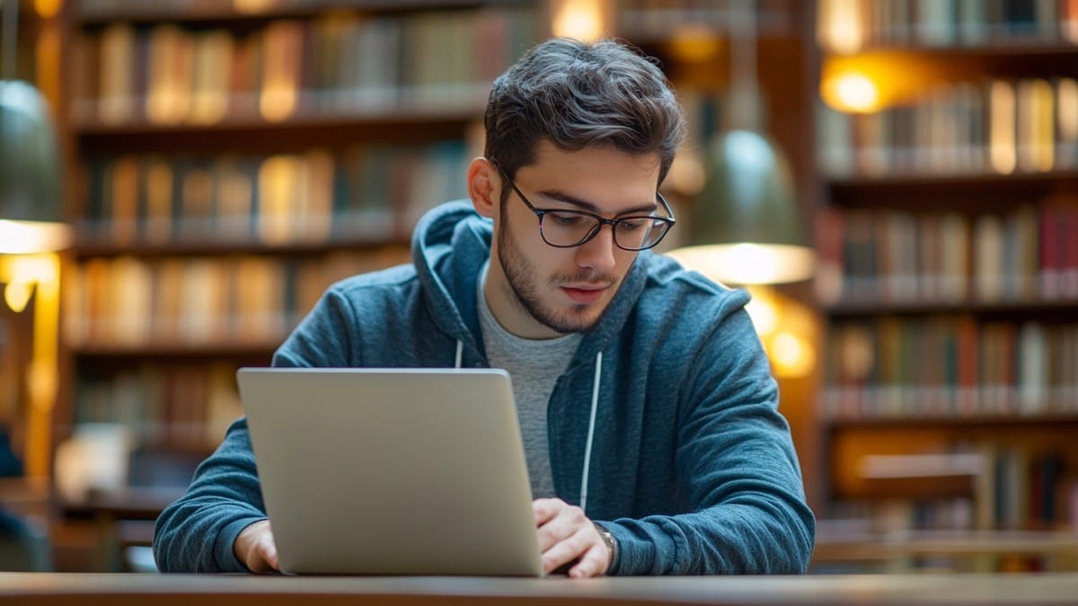
M828 51L873 46L1078 43L1075 0L820 0L817 39Z

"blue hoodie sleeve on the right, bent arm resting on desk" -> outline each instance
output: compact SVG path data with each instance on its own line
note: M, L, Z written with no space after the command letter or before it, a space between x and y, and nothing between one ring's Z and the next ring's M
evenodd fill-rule
M619 575L801 574L815 519L778 388L744 309L716 322L678 411L675 460L691 512L620 519Z

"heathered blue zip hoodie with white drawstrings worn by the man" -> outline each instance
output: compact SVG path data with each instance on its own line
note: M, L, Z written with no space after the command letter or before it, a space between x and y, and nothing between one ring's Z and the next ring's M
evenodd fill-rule
M475 283L492 231L468 202L433 209L416 228L414 265L332 286L274 366L487 367ZM554 488L570 504L586 498L588 517L614 536L611 574L805 570L815 521L747 302L644 251L558 377L548 408ZM245 570L233 542L263 519L240 418L157 520L157 566Z

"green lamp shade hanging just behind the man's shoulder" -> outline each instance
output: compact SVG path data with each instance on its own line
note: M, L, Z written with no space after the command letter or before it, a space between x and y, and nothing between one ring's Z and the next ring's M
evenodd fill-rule
M707 149L689 246L671 254L720 281L775 284L812 276L789 164L769 138L730 130Z

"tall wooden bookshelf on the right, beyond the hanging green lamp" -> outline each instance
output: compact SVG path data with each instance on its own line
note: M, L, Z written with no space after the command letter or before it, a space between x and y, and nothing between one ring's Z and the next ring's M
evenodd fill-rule
M893 551L1049 545L1078 524L1078 5L818 10L819 513Z

